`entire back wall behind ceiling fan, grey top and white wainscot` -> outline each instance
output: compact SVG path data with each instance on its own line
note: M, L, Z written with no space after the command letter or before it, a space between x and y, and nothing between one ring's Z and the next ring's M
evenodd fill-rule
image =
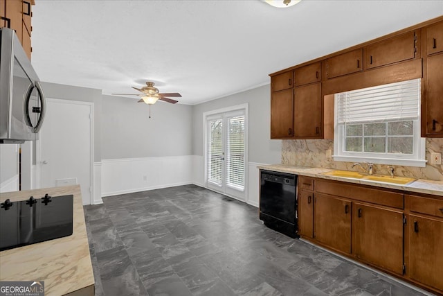
M192 182L192 106L102 98L102 196Z

